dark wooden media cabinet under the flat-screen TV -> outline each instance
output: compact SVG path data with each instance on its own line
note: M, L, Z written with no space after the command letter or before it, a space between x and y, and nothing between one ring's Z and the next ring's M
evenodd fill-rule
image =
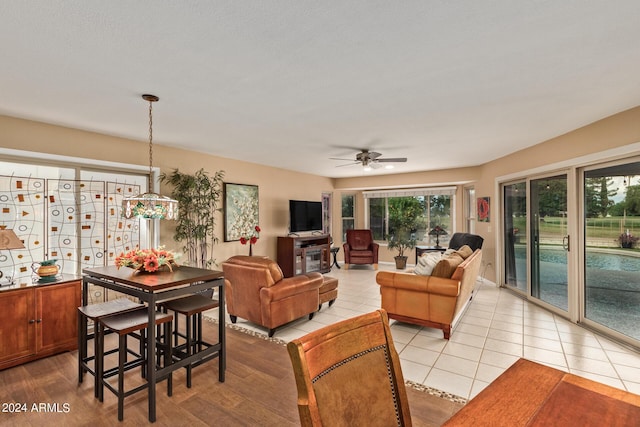
M278 237L278 264L284 277L331 271L330 242L328 234Z

